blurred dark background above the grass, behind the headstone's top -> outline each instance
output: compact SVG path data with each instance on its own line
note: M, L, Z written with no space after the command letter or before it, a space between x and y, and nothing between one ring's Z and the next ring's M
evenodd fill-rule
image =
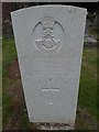
M47 4L47 3L42 3L42 2L41 3L38 3L38 2L6 2L6 3L2 3L3 36L10 37L13 35L12 24L11 24L11 15L10 15L11 11L32 7L32 6L42 6L42 4ZM87 15L87 21L86 21L85 37L86 37L86 41L96 42L99 38L99 36L97 34L97 32L99 31L98 20L97 20L99 16L99 11L98 11L97 3L90 4L90 3L86 3L86 2L85 3L67 2L67 3L63 3L63 4L87 8L88 15Z

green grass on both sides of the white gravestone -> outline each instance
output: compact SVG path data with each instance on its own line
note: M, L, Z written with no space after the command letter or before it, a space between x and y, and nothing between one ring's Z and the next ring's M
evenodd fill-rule
M13 98L7 89L11 86L11 80L8 78L7 66L16 58L16 51L14 40L3 38L2 41L2 53L3 53L3 124L8 122L8 119L12 114L12 101ZM97 106L97 50L86 48L82 54L81 76L79 85L79 98L78 106L86 108L88 112L97 118L96 106ZM23 111L23 110L22 110ZM99 113L98 113L99 114ZM99 120L99 119L98 119ZM20 117L20 124L24 128L29 128L28 118L22 112Z

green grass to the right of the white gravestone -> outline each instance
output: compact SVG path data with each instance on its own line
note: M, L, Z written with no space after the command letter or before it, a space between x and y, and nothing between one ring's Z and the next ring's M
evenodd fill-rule
M97 50L84 51L78 105L97 117Z

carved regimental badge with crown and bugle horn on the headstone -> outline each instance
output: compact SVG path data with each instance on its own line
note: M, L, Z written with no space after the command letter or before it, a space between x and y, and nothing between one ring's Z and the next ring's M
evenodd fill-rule
M57 23L52 16L45 16L42 24L42 38L36 38L35 44L42 52L55 52L61 48L61 40L54 36L54 25ZM57 24L61 26L59 24ZM58 31L59 32L59 31Z

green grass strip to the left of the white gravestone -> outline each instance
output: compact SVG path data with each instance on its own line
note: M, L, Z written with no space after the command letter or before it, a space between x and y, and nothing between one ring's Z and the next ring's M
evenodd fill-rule
M3 122L6 123L12 113L12 100L13 98L7 92L7 88L10 87L7 76L7 66L16 57L16 51L14 45L14 38L2 38L2 110Z

